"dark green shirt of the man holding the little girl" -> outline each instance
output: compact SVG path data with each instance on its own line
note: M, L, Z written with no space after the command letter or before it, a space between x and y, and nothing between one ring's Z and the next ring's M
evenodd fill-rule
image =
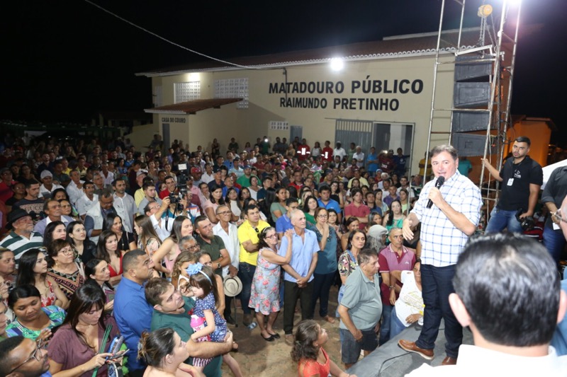
M183 300L185 301L185 305L183 306L185 313L182 314L162 313L154 309L150 330L154 331L164 327L172 327L179 337L181 337L181 340L189 342L191 335L193 335L193 329L191 328L191 313L193 313L193 306L195 306L195 302L189 297L184 297ZM185 362L193 365L193 358L189 357L189 359ZM207 364L205 369L203 369L203 373L205 373L207 377L222 377L223 373L220 371L221 364L223 364L223 357L216 356L209 364Z

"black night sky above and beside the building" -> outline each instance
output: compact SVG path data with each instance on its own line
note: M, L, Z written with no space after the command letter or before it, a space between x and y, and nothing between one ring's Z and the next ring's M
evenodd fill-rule
M191 50L228 60L434 32L441 6L439 0L94 2ZM203 61L86 1L6 4L0 119L89 122L99 110L142 110L151 107L151 81L136 72ZM467 4L477 8L481 1ZM444 29L457 28L460 8L451 0L447 8L454 16ZM465 26L480 25L476 11L467 15ZM566 16L565 0L523 1L522 24L543 28L519 42L512 114L551 117L562 130L555 139L567 141L561 100Z

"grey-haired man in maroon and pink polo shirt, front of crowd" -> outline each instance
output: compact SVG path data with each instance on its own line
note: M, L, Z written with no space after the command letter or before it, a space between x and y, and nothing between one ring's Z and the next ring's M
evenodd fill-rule
M399 294L402 284L392 284L390 271L410 270L415 264L414 250L403 245L403 234L401 228L392 228L388 235L390 244L383 248L378 254L382 284L380 286L382 296L382 326L380 327L380 344L390 340L390 319L392 305ZM399 280L398 280L399 282Z

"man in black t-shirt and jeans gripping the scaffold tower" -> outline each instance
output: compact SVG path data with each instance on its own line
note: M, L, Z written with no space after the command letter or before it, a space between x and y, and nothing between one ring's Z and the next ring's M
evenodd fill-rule
M522 233L522 226L516 219L516 212L522 209L520 219L534 216L539 187L544 182L544 172L537 161L529 158L529 146L532 142L527 137L517 137L512 146L512 157L508 158L500 171L496 170L486 158L483 164L500 183L500 199L490 212L490 220L485 233L507 231Z

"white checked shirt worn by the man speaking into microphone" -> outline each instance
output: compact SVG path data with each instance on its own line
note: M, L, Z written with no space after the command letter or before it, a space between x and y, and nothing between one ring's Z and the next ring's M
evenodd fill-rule
M454 265L468 236L454 226L445 214L433 205L427 208L427 196L437 180L427 182L412 214L421 221L421 260L424 265L446 267ZM457 170L439 189L443 199L457 212L464 214L475 226L481 216L481 190Z

